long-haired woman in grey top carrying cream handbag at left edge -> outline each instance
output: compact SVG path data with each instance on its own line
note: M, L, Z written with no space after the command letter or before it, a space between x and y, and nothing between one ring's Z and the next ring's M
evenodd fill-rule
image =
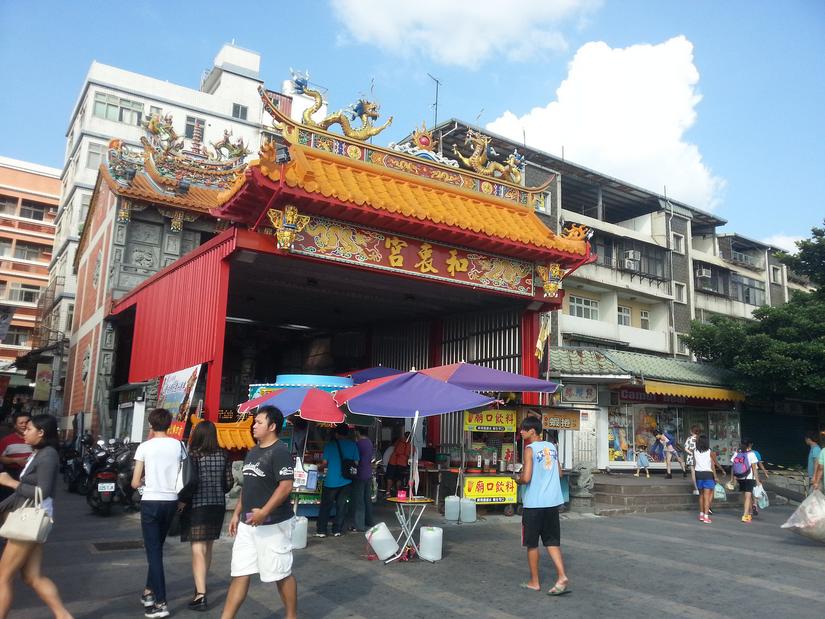
M20 481L14 480L8 473L0 473L0 485L14 490L10 497L0 503L0 513L7 516L22 507L26 501L34 500L36 494L42 494L41 506L51 517L60 468L57 420L51 415L35 415L26 425L23 440L34 451L23 467ZM40 493L37 493L38 489ZM13 539L6 541L6 548L0 558L0 619L5 619L11 610L14 598L12 581L17 572L20 572L23 582L34 589L57 619L72 619L71 613L63 606L55 584L40 573L42 563L43 544Z

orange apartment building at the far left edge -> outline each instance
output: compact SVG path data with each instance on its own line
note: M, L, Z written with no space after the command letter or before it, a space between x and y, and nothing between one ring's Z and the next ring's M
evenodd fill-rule
M37 345L37 299L49 280L59 197L60 170L0 157L0 372ZM4 374L0 398L7 387L28 391L17 368Z

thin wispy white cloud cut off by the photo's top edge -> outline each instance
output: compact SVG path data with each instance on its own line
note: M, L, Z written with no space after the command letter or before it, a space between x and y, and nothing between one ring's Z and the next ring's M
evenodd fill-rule
M349 35L401 56L477 68L491 56L525 60L567 49L559 27L601 0L332 0Z

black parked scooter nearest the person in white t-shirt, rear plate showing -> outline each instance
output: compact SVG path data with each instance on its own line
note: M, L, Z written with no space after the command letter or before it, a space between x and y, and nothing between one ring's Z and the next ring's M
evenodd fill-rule
M89 493L86 502L101 516L108 516L112 505L120 503L134 508L140 495L131 486L134 453L131 446L119 439L98 441L92 452L89 472Z

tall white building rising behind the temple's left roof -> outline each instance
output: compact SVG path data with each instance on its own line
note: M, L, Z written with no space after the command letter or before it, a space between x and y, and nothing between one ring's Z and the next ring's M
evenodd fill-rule
M227 141L250 152L260 146L263 106L258 95L260 55L224 45L194 89L93 62L69 116L66 158L60 175L54 252L41 298L44 349L52 354L55 389L51 409L63 409L67 355L77 293L73 272L98 170L112 139L142 148L144 124L169 121L194 157L221 157ZM288 99L287 99L288 101Z

